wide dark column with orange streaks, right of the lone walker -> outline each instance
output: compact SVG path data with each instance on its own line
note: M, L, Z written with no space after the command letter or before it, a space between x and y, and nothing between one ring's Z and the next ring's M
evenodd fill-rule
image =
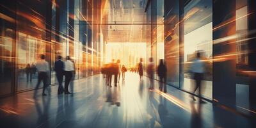
M236 43L232 43L236 39L223 39L236 34L236 0L213 1L212 6L212 97L215 102L233 106L236 104L236 56L231 55L236 53Z

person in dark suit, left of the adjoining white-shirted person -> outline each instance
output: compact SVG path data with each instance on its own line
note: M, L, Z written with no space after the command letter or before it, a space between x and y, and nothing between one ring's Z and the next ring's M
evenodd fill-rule
M62 94L64 89L62 86L63 83L63 76L64 76L64 62L61 60L62 57L58 56L58 60L54 63L54 70L56 72L56 77L58 79L59 87L58 87L58 94Z

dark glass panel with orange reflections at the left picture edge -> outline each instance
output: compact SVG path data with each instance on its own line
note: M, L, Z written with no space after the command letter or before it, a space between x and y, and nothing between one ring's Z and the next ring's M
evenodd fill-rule
M0 95L12 93L15 61L15 5L0 2ZM4 5L4 6L2 6Z

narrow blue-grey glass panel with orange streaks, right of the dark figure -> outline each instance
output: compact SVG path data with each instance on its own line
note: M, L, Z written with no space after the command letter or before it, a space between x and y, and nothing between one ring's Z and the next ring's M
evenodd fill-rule
M179 0L164 3L164 58L168 67L166 82L179 87Z

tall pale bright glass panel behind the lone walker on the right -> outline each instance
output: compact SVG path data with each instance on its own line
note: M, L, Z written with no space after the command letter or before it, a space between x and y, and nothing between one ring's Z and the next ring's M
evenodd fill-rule
M191 65L195 63L196 53L200 52L200 60L204 63L201 93L212 99L212 1L191 1L184 13L184 83L181 88L197 93Z

